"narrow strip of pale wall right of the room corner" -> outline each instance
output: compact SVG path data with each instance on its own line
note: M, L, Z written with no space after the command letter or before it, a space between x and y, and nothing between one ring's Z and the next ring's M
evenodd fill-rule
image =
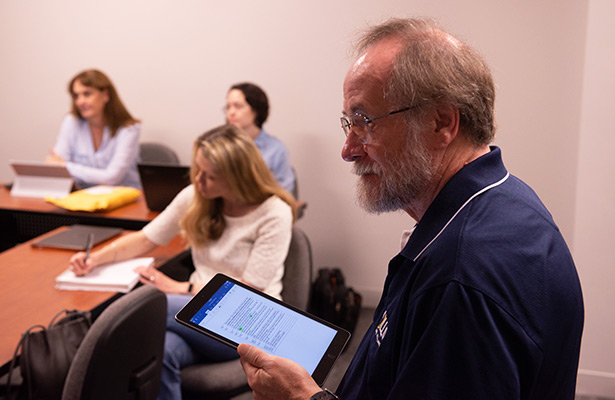
M615 1L592 0L579 141L574 255L583 285L585 330L580 393L615 394Z

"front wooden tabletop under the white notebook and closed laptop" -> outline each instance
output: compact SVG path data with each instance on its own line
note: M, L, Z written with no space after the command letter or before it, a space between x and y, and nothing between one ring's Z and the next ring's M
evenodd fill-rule
M66 228L55 229L41 237L63 229ZM64 308L91 310L115 294L55 289L55 277L67 268L68 260L75 252L32 247L33 241L0 253L0 365L10 361L21 334L30 326L47 325ZM147 256L156 257L159 266L183 249L178 236L169 245L158 247Z

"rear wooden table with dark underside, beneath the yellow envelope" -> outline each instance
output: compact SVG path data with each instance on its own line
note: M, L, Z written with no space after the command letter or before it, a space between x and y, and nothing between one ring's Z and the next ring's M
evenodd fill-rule
M44 199L13 197L0 186L0 250L65 225L85 224L139 230L157 212L147 208L143 195L130 204L106 212L64 210Z

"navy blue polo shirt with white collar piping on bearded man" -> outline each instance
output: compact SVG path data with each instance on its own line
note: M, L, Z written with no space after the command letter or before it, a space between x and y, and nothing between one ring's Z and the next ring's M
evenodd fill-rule
M342 399L573 399L583 330L574 262L500 149L442 188L389 263Z

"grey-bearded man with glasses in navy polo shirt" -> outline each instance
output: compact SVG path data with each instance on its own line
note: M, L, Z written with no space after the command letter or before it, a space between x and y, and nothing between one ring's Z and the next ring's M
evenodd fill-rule
M583 298L568 247L495 134L483 59L423 19L362 38L344 81L342 157L368 211L416 221L336 394L241 344L260 399L573 399Z

